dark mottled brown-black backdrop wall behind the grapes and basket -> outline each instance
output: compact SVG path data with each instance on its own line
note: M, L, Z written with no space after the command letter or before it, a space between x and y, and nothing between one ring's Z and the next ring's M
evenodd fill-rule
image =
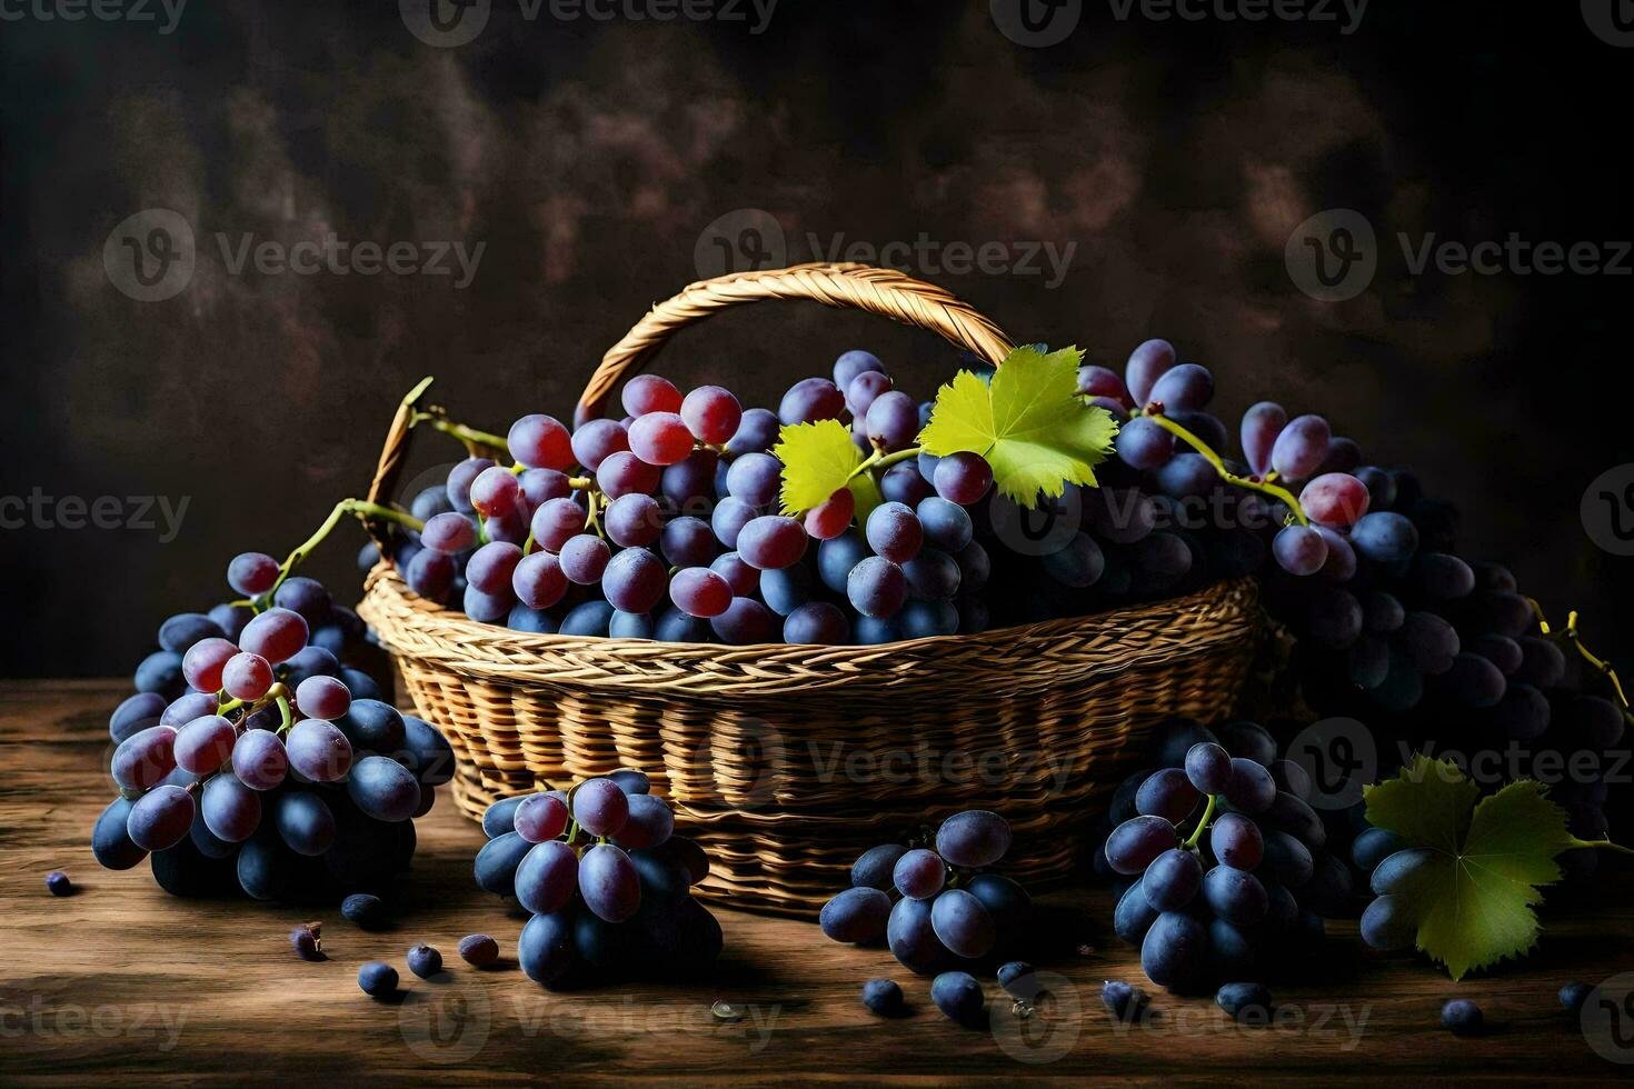
M1575 3L1376 0L1332 23L1118 21L1085 3L1028 49L987 3L797 3L743 23L525 21L495 0L459 49L389 0L204 3L178 29L8 21L3 42L0 496L163 495L157 529L0 531L0 673L134 666L168 612L225 593L227 558L286 552L368 487L397 398L503 431L570 416L601 353L699 271L701 232L763 209L882 245L1077 243L1065 281L930 274L1018 340L1121 361L1147 336L1212 366L1216 410L1328 415L1371 460L1420 470L1590 645L1627 655L1631 565L1578 503L1634 460L1627 276L1412 276L1397 230L1480 242L1634 237L1634 49ZM118 292L103 243L170 207L198 271ZM1283 245L1328 207L1386 240L1350 302L1301 294ZM230 276L212 235L485 242L475 282ZM763 304L659 369L776 403L868 346L928 397L949 349L881 318ZM458 457L420 439L417 469ZM410 473L412 477L413 473ZM356 593L346 527L315 573ZM1626 658L1624 658L1626 663Z

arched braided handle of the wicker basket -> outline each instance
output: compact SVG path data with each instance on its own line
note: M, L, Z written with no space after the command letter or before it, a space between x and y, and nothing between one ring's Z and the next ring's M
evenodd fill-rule
M810 299L827 307L853 307L940 333L993 366L1010 354L1010 338L971 304L891 268L869 264L792 264L755 273L729 273L688 284L673 299L657 304L624 340L601 358L574 410L574 426L601 415L619 379L639 374L663 343L681 328L716 310L761 299Z

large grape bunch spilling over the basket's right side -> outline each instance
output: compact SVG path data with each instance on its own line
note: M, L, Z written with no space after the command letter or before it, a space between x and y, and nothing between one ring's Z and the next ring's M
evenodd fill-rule
M1415 749L1515 746L1505 779L1551 784L1574 834L1605 834L1603 772L1624 740L1626 702L1603 669L1585 666L1570 632L1544 627L1507 568L1456 555L1451 503L1426 495L1409 470L1364 464L1361 447L1320 416L1291 420L1271 402L1243 415L1234 460L1227 429L1206 413L1212 377L1176 364L1165 341L1141 344L1123 379L1083 367L1080 389L1126 416L1118 456L1139 470L1145 503L1160 513L1208 503L1232 516L1214 519L1204 552L1217 573L1260 578L1268 611L1297 637L1299 692L1324 715L1368 725L1381 776ZM1565 862L1585 873L1596 852Z

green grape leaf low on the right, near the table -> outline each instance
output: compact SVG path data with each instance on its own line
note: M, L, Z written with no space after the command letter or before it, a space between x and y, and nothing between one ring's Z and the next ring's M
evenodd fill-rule
M1451 761L1417 754L1395 779L1366 790L1368 823L1435 852L1422 883L1399 893L1418 922L1418 949L1454 980L1538 940L1538 890L1560 880L1554 857L1582 846L1542 784L1480 790Z

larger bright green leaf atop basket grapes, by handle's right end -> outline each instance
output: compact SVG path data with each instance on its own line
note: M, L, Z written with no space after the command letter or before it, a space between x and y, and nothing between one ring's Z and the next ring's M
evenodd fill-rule
M1069 483L1093 485L1118 423L1078 400L1082 361L1077 348L1044 354L1028 344L1010 353L992 382L959 371L936 392L920 446L938 457L980 454L998 491L1028 508L1039 493L1057 498Z

